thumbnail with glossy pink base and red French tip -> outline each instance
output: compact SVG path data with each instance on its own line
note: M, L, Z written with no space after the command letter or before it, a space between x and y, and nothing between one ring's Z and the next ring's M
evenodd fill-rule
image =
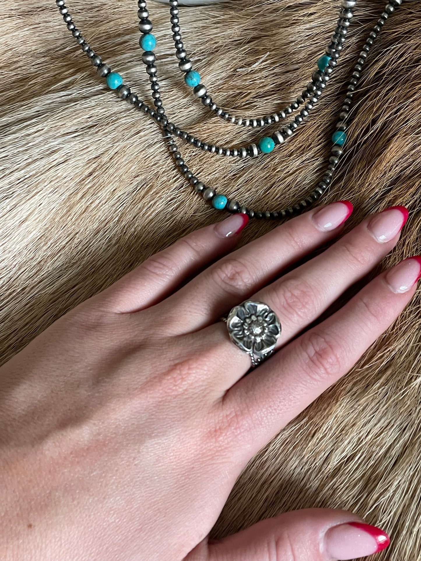
M333 526L324 539L327 553L338 561L373 555L386 549L390 543L383 530L361 522Z

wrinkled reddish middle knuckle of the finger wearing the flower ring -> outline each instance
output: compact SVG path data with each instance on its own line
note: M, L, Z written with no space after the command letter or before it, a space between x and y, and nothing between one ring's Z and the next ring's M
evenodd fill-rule
M317 291L304 279L287 278L279 286L272 287L271 300L278 310L289 318L308 321L316 314Z

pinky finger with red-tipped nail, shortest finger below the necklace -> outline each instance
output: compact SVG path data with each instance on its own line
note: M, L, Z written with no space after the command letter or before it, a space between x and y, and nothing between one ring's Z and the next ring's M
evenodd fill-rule
M248 223L245 214L232 216L180 238L91 298L97 309L123 314L157 304L182 282L232 250Z

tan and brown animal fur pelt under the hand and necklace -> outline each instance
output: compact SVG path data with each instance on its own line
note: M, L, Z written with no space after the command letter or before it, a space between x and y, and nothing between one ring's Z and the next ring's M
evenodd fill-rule
M210 116L183 85L168 7L150 4L168 116L211 142L249 144L259 131ZM198 153L180 142L187 164L260 210L306 196L327 165L345 80L384 6L359 0L333 79L294 139L253 160ZM216 102L239 116L260 116L304 89L338 7L337 0L232 0L180 8L180 20L187 52ZM149 100L136 2L69 0L68 8L103 60ZM4 362L148 255L222 215L177 173L157 125L106 88L54 0L2 0L0 31ZM347 229L368 213L408 206L401 240L378 273L421 253L418 1L404 0L388 20L355 100L346 157L323 202L354 203ZM274 226L250 221L244 242ZM379 559L421 559L420 328L418 292L359 364L250 462L213 537L290 509L337 507L390 532L392 544Z

